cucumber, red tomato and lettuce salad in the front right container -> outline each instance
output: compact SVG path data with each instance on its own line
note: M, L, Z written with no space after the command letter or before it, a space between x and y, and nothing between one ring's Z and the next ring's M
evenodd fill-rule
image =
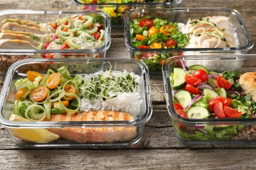
M184 70L175 67L170 75L175 112L188 119L251 118L256 103L239 83L239 71L215 73L203 65ZM188 141L232 139L245 125L187 126L173 119L175 129Z

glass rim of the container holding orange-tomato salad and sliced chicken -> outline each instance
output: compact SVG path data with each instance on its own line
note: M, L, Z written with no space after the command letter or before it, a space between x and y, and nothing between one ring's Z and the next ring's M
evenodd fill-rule
M244 35L247 37L247 44L245 46L241 47L226 47L226 48L160 48L160 49L144 49L144 48L136 48L131 44L131 30L130 30L130 16L134 13L144 13L144 12L209 12L209 11L221 11L221 12L229 12L230 14L233 14L236 16L236 19L238 20L238 23L240 24L240 27L242 28L242 31ZM165 8L165 9L131 9L127 12L125 12L124 16L124 29L125 29L125 45L127 48L132 52L158 52L158 53L179 53L179 52L186 52L186 51L195 51L195 52L236 52L236 51L248 51L253 48L254 41L249 34L249 31L245 27L244 21L242 19L242 16L238 10L235 9L228 9L228 8L222 8L222 7L176 7L176 8Z

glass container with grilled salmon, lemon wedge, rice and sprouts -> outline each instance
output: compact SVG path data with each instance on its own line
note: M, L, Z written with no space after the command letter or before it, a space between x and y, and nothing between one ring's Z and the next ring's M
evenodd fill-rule
M127 146L152 115L148 69L135 59L23 59L0 100L0 123L22 146Z

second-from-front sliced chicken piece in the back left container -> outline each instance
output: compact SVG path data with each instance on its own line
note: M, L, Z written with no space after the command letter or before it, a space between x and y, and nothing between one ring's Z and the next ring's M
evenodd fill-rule
M35 36L35 35L33 35ZM33 46L39 46L39 42L31 38L32 35L22 35L17 33L0 33L0 39L18 39L22 41L28 41Z

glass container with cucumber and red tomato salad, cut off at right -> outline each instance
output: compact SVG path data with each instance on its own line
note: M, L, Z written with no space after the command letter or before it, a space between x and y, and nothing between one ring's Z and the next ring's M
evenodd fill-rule
M162 71L178 139L191 144L255 142L255 54L178 56L167 59ZM203 81L205 73L203 83L190 79Z

